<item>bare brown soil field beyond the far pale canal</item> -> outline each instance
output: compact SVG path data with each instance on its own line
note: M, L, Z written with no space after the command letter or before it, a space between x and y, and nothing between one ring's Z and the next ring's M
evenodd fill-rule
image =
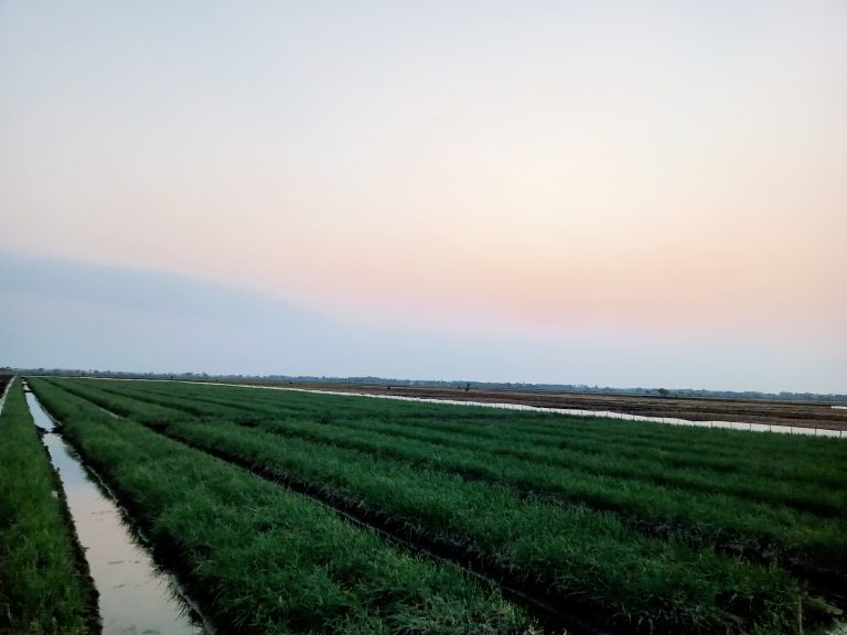
M514 391L485 389L417 388L408 386L377 386L351 384L250 381L288 388L366 392L427 399L455 399L498 403L521 403L538 408L569 408L579 410L609 410L646 417L668 417L691 421L741 421L771 426L828 428L847 430L847 409L835 409L829 403L804 401L775 401L759 399L722 399L693 397L647 397L639 395L597 395L586 392ZM847 405L843 405L847 406Z

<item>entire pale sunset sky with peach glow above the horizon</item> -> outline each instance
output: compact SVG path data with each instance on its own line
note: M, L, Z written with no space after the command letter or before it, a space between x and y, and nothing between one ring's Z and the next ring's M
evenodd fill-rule
M845 112L841 1L0 0L0 365L844 392Z

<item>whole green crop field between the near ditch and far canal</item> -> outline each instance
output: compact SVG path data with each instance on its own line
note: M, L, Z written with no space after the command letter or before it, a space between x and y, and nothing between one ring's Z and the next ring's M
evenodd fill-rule
M31 386L234 633L764 635L812 632L843 602L838 440L165 381Z

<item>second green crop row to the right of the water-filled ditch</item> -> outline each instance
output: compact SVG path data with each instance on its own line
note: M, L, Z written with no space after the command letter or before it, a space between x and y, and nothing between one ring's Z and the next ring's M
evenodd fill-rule
M711 548L634 532L610 514L226 421L148 420L160 432L323 499L452 542L596 622L665 633L791 632L801 589L787 573ZM114 424L118 424L115 422Z

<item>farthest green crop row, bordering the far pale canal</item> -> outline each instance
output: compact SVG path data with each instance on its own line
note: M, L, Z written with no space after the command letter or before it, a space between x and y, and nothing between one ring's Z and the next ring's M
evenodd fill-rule
M592 420L490 408L392 402L328 397L277 390L193 386L164 383L97 383L101 391L135 395L146 400L191 408L193 413L219 416L245 409L276 417L336 422L403 423L406 430L443 431L503 441L515 448L583 452L599 459L639 459L676 469L741 473L748 478L780 483L840 485L847 444L830 439L786 439L781 435L722 430L678 429L657 423ZM211 408L210 408L211 406ZM214 406L218 406L217 409ZM786 443L787 442L787 443ZM714 450L714 451L712 451ZM774 461L778 458L779 461Z

